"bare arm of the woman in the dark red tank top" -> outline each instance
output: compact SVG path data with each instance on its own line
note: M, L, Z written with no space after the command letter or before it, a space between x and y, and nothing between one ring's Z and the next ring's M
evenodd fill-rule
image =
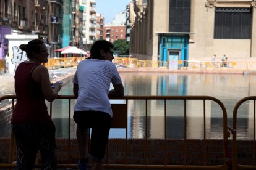
M49 72L43 65L38 65L38 67L33 70L31 76L37 83L41 84L41 90L45 99L48 102L53 102L53 100L56 99L59 90L61 89L61 84L54 83L55 87L52 89L51 81L49 79Z

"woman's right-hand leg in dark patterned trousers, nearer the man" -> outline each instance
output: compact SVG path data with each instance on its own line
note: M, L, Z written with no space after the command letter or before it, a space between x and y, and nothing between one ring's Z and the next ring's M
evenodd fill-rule
M48 124L38 128L40 128L41 133L39 148L42 162L41 169L57 169L55 126L54 124Z

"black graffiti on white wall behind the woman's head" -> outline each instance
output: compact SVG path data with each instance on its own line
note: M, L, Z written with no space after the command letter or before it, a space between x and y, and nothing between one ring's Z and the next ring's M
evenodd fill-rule
M14 71L16 70L19 63L27 61L27 55L25 51L22 51L19 46L12 47L13 57L12 57L12 64L15 65Z

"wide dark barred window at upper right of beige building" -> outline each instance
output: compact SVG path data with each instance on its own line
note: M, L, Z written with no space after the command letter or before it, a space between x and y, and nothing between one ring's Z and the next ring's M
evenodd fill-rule
M250 39L252 30L251 8L215 9L215 39Z

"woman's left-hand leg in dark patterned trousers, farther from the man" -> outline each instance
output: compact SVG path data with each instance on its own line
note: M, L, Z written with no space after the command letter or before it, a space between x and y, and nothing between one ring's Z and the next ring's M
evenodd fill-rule
M38 152L38 135L36 129L29 125L12 124L17 145L17 169L33 169Z

